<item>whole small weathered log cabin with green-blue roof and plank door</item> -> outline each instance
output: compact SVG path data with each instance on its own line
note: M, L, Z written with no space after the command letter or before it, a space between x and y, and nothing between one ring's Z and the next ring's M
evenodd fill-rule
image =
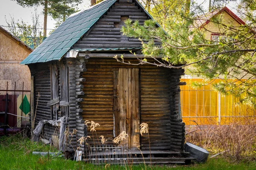
M83 136L94 136L87 143L97 145L103 135L113 145L126 131L122 144L128 149L184 151L185 124L177 114L184 70L117 62L113 57L121 54L131 63L143 57L140 40L120 32L128 18L141 24L152 19L137 0L105 0L70 16L22 62L32 75L35 123L65 116L65 150L85 151ZM98 137L85 120L100 124ZM150 145L148 135L140 135L141 123L148 124ZM47 125L42 136L50 139L54 132Z

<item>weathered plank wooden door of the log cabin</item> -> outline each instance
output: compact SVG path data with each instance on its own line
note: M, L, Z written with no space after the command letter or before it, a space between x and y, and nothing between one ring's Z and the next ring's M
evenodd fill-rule
M122 131L128 138L121 142L126 148L140 145L140 79L139 68L114 69L114 136Z

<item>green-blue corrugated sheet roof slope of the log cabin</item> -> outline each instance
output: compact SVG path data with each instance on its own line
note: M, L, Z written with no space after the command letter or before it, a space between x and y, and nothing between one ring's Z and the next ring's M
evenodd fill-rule
M115 2L116 0L105 0L87 10L70 16L20 64L61 59Z

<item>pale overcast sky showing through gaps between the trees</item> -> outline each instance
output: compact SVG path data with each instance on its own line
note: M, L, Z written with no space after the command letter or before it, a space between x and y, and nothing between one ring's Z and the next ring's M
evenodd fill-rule
M204 8L207 9L209 6L209 0L195 0L197 3L201 4L203 3ZM17 20L24 20L26 23L32 24L31 15L32 13L35 13L34 7L26 7L23 8L22 6L18 5L15 0L0 0L0 26L7 26L6 20L9 22L11 17L14 17L15 21ZM227 5L228 8L230 8L233 12L236 13L235 10L232 9L233 6L235 6L237 2L231 2ZM83 3L79 4L79 9L84 10L89 7L90 0L83 0ZM43 6L37 7L38 14L40 16L41 20L41 28L43 28L43 21L44 16L42 14ZM51 31L50 29L53 29L55 27L55 21L48 16L47 20L47 32ZM7 29L7 27L3 27Z

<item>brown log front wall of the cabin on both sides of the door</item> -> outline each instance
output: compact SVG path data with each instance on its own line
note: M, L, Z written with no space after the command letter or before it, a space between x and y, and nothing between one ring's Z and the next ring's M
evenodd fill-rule
M130 59L136 62L137 59ZM96 127L98 137L105 136L107 144L113 144L114 119L113 99L114 73L116 68L140 68L140 123L148 123L151 150L172 150L172 122L180 122L179 116L173 116L178 111L179 79L183 69L156 68L153 65L125 65L115 59L90 58L86 65L87 71L83 77L84 101L81 102L84 120L100 124ZM175 99L177 98L177 99ZM179 120L177 120L179 119ZM182 121L182 120L181 120ZM87 130L89 144L99 144L96 133ZM179 131L179 130L178 130ZM182 134L181 134L182 135ZM140 138L141 148L149 149L148 135Z

